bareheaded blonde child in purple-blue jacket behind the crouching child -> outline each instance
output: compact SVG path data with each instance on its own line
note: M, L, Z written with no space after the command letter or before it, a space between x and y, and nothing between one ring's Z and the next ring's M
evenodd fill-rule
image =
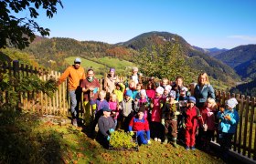
M101 90L99 93L99 98L97 99L91 99L90 104L94 105L96 104L96 110L95 110L95 118L92 122L92 135L94 134L94 130L95 127L98 123L99 118L101 118L101 115L103 113L103 111L101 110L101 108L109 108L109 103L108 101L105 100L106 97L106 92L104 90Z

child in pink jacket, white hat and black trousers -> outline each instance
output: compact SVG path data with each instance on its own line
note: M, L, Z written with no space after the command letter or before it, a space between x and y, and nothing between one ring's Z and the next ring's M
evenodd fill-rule
M151 131L155 141L161 142L164 136L164 126L161 124L162 108L165 103L165 99L162 97L164 93L163 87L157 87L155 89L155 97L152 100L151 108Z

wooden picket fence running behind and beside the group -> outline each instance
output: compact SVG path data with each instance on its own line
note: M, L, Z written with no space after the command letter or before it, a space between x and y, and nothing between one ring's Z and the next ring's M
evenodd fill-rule
M8 64L0 65L0 73L6 72L10 76L20 75L23 77L36 74L42 80L48 80L54 77L56 80L60 77L59 72L47 72L44 69L37 67L28 67L19 65L18 61ZM146 78L143 78L145 80ZM122 80L126 80L122 77ZM103 79L99 80L101 88L103 86ZM193 86L195 84L192 84ZM192 87L193 93L193 87ZM2 94L5 93L2 92ZM255 97L245 97L243 95L229 94L223 91L216 91L216 97L219 97L223 104L229 97L236 97L239 105L237 106L240 123L237 128L237 133L233 139L233 150L237 151L241 156L246 156L256 160L256 112L255 112ZM5 101L5 100L4 100ZM1 102L2 104L4 102ZM67 81L63 82L53 97L48 97L42 92L33 91L32 93L24 93L21 98L20 107L29 112L37 112L46 115L69 116L69 98L67 92ZM83 105L80 102L80 117L84 117ZM217 140L217 138L216 138Z

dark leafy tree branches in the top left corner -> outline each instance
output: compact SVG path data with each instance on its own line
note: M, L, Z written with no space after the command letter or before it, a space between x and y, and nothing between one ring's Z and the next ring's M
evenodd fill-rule
M0 48L15 46L23 49L32 42L38 32L41 36L48 36L49 29L39 26L35 19L38 9L46 11L48 18L57 13L57 5L63 7L60 0L1 0L0 1ZM14 15L24 10L29 16Z

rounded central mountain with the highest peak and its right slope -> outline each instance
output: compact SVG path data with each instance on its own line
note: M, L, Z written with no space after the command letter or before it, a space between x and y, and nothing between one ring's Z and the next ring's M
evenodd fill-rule
M178 43L183 49L183 53L187 56L186 61L188 66L199 72L206 71L211 77L222 81L240 80L240 77L231 67L198 51L193 46L190 46L183 37L175 34L168 32L149 32L136 36L127 42L119 43L118 45L128 46L135 50L139 50L143 47L151 48L153 45L164 45L167 41L175 42L175 38L177 38Z

